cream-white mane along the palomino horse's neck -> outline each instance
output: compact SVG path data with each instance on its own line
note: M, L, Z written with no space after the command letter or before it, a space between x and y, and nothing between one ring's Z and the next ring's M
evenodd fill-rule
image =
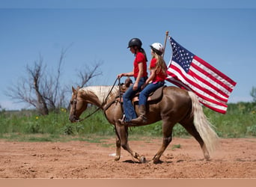
M108 96L109 91L112 89L112 86L88 86L84 88L80 88L79 91L82 91L84 93L92 92L94 93L100 102L104 102L104 99L106 96ZM118 94L118 86L115 86L112 90L112 92L109 94L109 99L112 99L113 96L116 96Z

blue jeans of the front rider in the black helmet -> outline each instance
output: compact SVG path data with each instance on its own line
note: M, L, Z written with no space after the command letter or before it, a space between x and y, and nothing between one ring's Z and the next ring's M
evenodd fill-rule
M136 79L135 79L136 80ZM132 86L128 88L128 90L124 93L123 101L124 101L124 121L128 122L137 117L134 106L132 105L132 97L135 96L136 93L141 91L141 86L144 85L144 82L147 80L147 77L142 77L138 82L138 89L136 91L132 90Z

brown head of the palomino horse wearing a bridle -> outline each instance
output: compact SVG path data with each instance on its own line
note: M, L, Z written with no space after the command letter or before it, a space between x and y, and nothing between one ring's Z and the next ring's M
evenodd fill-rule
M70 99L70 121L78 122L79 116L87 108L88 103L82 98L82 93L79 92L79 87L72 87L72 97Z

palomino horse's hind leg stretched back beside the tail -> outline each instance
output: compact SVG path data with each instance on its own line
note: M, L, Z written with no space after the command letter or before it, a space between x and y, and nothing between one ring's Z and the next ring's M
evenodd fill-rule
M184 123L180 122L180 124L186 129L187 132L189 132L190 135L192 135L196 139L196 141L198 141L198 143L201 146L201 149L203 150L204 159L209 160L210 159L210 154L209 154L207 148L204 145L203 139L199 135L198 131L195 129L195 125L193 123L193 120L190 119L189 121L186 121Z

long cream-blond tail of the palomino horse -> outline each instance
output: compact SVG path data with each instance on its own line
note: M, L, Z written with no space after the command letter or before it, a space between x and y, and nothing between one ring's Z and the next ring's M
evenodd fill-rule
M213 125L207 120L207 117L204 115L203 108L198 101L197 96L192 91L189 91L189 96L192 99L192 114L194 115L194 125L197 129L199 135L204 141L204 148L212 153L216 149L218 143L218 135L213 130Z

